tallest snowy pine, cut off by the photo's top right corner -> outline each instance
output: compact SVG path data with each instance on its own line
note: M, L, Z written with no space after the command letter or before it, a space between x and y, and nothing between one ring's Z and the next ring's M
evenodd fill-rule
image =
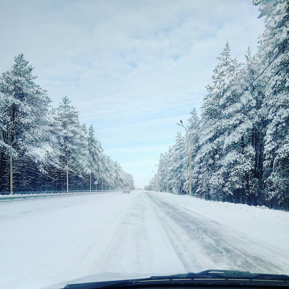
M254 0L259 5L266 29L259 50L266 67L289 42L287 0ZM266 194L271 205L289 208L289 47L284 49L264 73L266 93L263 109L269 120L265 137Z

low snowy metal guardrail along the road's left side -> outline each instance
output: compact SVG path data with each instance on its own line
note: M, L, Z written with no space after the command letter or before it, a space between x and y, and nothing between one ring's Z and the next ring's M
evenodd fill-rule
M112 192L119 192L121 190L107 190L107 191L82 191L82 192L70 192L70 193L38 193L38 194L31 194L29 196L24 194L14 194L13 197L0 197L0 202L7 202L13 200L23 200L29 198L49 198L49 197L65 197L65 196L76 196L76 195L91 195L91 194L105 194L105 193L112 193Z

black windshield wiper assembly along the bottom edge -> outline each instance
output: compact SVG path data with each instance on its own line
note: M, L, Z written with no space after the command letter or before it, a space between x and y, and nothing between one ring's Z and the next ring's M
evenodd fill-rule
M67 284L69 289L93 289L112 287L151 287L167 285L200 285L200 284L234 284L234 285L267 285L289 287L288 275L256 274L246 271L206 270L199 273L186 273L169 276L152 276L143 279L105 281L81 284Z

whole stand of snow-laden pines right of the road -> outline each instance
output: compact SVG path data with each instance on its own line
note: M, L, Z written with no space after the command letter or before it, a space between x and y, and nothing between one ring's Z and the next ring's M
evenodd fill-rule
M253 4L265 20L258 52L248 49L240 63L227 43L206 86L200 118L193 109L188 119L192 194L289 210L289 4ZM179 132L160 156L160 189L166 191L168 183L170 192L187 194L188 163L186 136Z

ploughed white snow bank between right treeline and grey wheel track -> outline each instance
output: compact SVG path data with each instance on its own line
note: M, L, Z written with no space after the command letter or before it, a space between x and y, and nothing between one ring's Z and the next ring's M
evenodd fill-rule
M289 212L265 206L248 206L228 202L208 201L188 195L152 192L172 204L232 227L260 241L289 251Z

